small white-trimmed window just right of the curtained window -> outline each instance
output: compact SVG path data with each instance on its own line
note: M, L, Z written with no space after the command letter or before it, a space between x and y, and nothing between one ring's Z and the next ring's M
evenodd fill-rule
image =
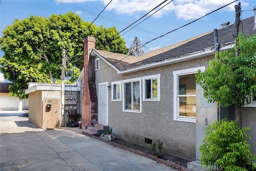
M160 74L142 77L143 101L160 101Z

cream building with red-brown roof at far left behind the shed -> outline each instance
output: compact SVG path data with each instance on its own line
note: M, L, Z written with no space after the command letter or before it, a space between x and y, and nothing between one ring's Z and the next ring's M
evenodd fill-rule
M11 84L0 83L0 110L28 110L28 99L20 100L18 97L9 95L9 85Z

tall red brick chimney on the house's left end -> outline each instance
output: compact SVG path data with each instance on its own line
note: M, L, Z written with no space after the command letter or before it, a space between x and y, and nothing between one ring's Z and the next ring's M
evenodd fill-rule
M95 84L95 57L90 53L95 49L95 38L84 39L84 88L82 93L82 128L98 122L98 99Z

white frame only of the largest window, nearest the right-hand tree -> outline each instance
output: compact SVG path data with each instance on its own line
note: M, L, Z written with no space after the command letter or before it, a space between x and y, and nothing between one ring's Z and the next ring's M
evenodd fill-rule
M177 95L178 95L178 87L179 87L178 76L195 74L198 70L204 71L205 66L196 67L196 68L188 68L185 70L179 70L179 71L173 72L173 120L174 121L184 121L184 122L196 123L196 117L186 117L186 116L181 117L179 115L179 103L177 103L177 101L178 101Z

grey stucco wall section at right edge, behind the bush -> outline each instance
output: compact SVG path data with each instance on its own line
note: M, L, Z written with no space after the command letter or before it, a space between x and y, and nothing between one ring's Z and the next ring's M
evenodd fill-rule
M250 131L248 131L248 135L252 137L252 139L248 139L248 143L251 145L252 153L256 154L256 107L243 107L242 108L242 123L243 126L250 127Z

